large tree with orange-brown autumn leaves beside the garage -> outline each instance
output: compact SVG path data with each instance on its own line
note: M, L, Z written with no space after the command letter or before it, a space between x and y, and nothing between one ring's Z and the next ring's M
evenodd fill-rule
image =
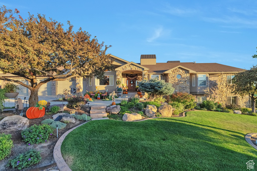
M98 43L88 32L80 28L77 32L68 21L68 29L45 15L37 17L29 13L23 19L20 12L0 8L0 71L21 76L30 85L15 82L31 91L29 104L38 102L38 89L49 81L64 81L85 75L102 78L105 70L113 70L113 59L106 50L111 47ZM37 82L38 76L47 76Z

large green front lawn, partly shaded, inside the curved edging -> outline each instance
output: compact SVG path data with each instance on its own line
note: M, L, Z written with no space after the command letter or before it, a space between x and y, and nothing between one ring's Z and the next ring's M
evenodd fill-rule
M247 170L257 162L245 134L257 117L187 112L142 122L95 120L69 133L61 146L72 170ZM257 168L257 165L254 167Z

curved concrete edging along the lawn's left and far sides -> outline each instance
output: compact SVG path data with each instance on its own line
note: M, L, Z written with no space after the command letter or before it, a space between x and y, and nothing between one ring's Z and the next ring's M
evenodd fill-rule
M186 111L186 112L190 112L190 111ZM185 117L186 116L185 115L186 112L183 112L183 114L182 114L183 116L178 116L178 117ZM176 117L176 118L178 118L178 117ZM165 116L162 116L162 117L151 117L151 118L145 118L145 119L137 120L137 121L133 121L133 122L140 122L140 121L149 120L149 119L155 119L155 118L169 118L169 117L165 117ZM70 167L67 165L67 163L65 162L65 160L63 159L62 154L61 154L61 145L62 145L63 140L65 139L65 137L71 131L73 131L77 127L82 126L82 125L84 125L84 124L86 124L86 123L88 123L90 121L91 120L71 128L70 130L68 130L67 132L62 134L62 136L57 140L57 142L56 142L56 144L55 144L55 146L53 148L53 158L54 158L54 161L56 162L56 165L57 165L57 167L59 168L60 171L72 171L70 169ZM126 121L123 121L123 122L126 122Z

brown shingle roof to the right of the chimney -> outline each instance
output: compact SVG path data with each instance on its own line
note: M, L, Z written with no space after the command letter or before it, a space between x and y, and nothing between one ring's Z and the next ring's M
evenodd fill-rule
M236 68L233 66L222 65L218 63L193 63L193 62L181 62L181 63L156 63L156 65L142 65L149 68L149 73L163 73L169 69L177 66L183 66L196 72L240 72L245 69Z

